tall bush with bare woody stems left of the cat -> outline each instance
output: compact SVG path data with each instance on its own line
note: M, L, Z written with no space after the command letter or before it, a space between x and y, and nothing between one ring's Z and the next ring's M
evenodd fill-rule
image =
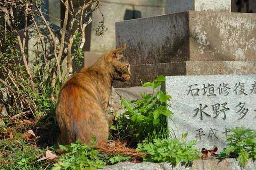
M65 6L64 20L56 21L61 21L62 30L66 31L57 33L45 18L44 1L1 0L0 83L8 89L5 107L9 115L30 110L33 114L27 117L38 118L49 111L64 81L81 66L85 28L92 22L92 12L99 9L102 16L101 25L95 29L97 35L104 35L107 30L100 0L61 2ZM78 8L73 9L73 6ZM24 32L18 32L23 28ZM35 32L28 32L26 28ZM76 63L74 72L73 61Z

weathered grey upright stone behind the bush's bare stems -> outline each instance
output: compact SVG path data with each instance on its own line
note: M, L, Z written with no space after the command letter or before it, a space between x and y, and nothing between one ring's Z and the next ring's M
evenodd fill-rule
M62 29L61 27L56 26L55 24L52 24L49 22L47 23L49 24L50 29L55 35L55 40L57 44L57 53L58 53L58 50L60 48ZM52 71L54 70L54 63L55 63L55 56L53 53L54 46L53 46L52 37L50 36L49 31L42 20L38 24L38 29L40 31L43 46L40 45L41 40L39 38L37 28L33 23L29 25L26 30L27 41L26 41L25 47L27 48L27 50L25 51L25 53L28 56L27 61L33 77L39 76L39 73L38 73L38 70L39 70L40 74L43 75L44 80L46 80L48 78L48 75L51 74ZM20 30L19 33L21 36L21 40L23 40L24 29ZM61 66L63 69L62 76L63 78L65 78L67 74L67 45L66 44L65 44L64 52L61 58ZM47 70L47 72L45 70Z

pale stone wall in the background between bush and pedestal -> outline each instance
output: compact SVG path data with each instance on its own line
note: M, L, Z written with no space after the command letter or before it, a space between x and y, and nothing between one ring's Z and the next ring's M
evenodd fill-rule
M116 49L115 23L164 14L164 0L102 0L102 12L108 31L103 37L96 37L94 32L91 32L90 52L108 52ZM99 12L93 12L92 17L92 27L98 26L102 20Z

